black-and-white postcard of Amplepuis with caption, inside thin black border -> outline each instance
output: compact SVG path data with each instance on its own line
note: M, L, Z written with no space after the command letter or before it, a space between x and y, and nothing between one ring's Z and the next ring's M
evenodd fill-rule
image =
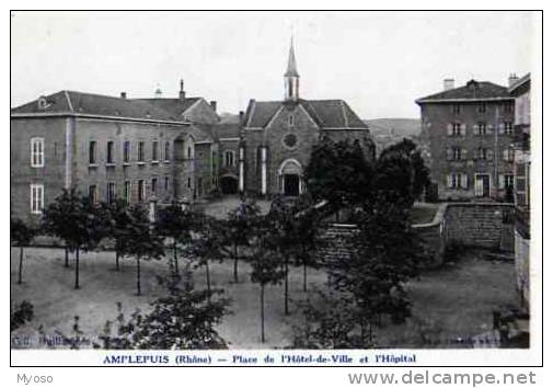
M541 23L11 11L11 363L540 364Z

